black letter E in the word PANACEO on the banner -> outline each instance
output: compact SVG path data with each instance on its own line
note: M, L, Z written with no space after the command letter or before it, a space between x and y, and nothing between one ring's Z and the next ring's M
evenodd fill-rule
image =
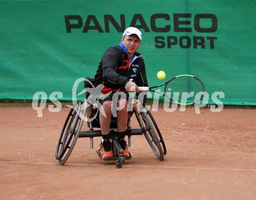
M191 32L192 28L182 28L180 25L190 25L191 21L181 21L179 18L191 18L190 13L175 13L173 14L174 32Z

